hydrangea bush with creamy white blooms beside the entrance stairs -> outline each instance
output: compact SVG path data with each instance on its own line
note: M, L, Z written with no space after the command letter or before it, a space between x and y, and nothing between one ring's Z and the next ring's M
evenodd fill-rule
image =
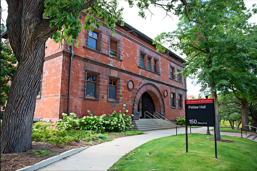
M54 126L58 130L71 130L71 129L83 129L83 130L102 130L102 131L126 131L127 127L133 127L131 125L131 115L126 115L128 110L124 113L119 111L118 113L114 111L112 114L103 114L101 116L93 116L93 114L87 110L87 113L90 116L84 116L79 119L79 117L70 113L63 113L63 119L59 119L57 122L54 122Z

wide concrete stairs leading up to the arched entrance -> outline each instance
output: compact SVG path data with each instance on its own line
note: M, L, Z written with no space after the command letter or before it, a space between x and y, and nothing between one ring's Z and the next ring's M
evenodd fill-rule
M154 131L154 130L176 128L175 124L173 124L172 122L169 122L169 123L167 122L168 122L167 120L162 120L162 119L160 119L160 121L158 119L139 119L137 121L132 121L131 125L134 125L134 127L132 127L132 129L129 128L128 130Z

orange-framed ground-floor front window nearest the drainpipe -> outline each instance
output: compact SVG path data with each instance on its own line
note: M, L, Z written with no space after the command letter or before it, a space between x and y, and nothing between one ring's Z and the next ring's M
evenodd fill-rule
M96 97L96 75L87 74L86 97Z

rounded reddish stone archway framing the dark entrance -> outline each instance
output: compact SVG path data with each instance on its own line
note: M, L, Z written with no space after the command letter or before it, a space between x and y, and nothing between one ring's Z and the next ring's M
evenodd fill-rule
M155 111L157 111L159 114L165 114L165 105L164 100L162 97L162 93L159 90L159 88L154 85L153 83L144 83L139 86L139 88L136 91L136 94L134 96L133 100L133 106L132 106L132 113L135 115L135 113L138 113L138 104L139 99L142 96L144 92L147 92L150 94L154 101Z

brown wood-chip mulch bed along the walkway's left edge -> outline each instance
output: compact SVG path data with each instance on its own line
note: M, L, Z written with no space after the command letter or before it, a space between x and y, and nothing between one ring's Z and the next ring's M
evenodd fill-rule
M116 136L112 134L108 134L108 135L112 140L116 138L130 136L130 135L120 135L117 137L117 135ZM31 150L27 152L17 152L12 154L1 153L1 170L12 171L12 170L21 169L23 167L34 165L35 163L38 163L42 160L45 160L55 155L66 152L70 149L93 146L93 145L101 144L103 142L104 141L97 140L94 142L91 141L90 144L88 144L88 142L84 141L84 142L72 142L66 145L52 145L52 144L42 143L42 142L32 142L31 150L44 150L44 151L49 151L53 154L49 154L44 157L39 153L40 157L36 157L35 156L36 152Z

